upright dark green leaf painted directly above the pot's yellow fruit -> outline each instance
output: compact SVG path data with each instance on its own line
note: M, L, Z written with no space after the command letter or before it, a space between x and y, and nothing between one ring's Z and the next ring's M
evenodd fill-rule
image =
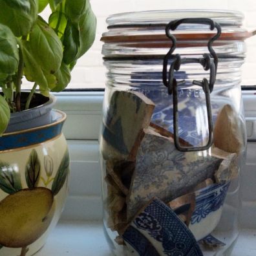
M33 149L30 153L25 169L26 182L30 189L37 187L37 184L40 180L40 171L40 161L36 150Z

